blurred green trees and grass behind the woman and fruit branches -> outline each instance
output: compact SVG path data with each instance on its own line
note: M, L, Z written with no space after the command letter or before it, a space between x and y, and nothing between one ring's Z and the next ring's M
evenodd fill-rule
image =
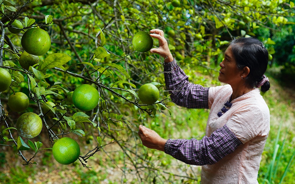
M203 1L179 0L179 7L172 1L160 0L75 0L28 1L22 8L22 16L35 19L38 24L45 23L46 15L53 16L53 24L43 27L48 31L52 45L44 60L52 53L65 53L72 60L64 65L69 72L80 74L83 70L91 70L77 63L89 62L97 47L101 46L101 30L106 38L104 48L110 53L108 57L93 61L97 65L116 63L130 75L126 78L120 71L109 68L99 82L112 87L117 93L126 95L126 90L136 91L141 85L150 82L164 84L160 90L160 99L168 96L163 77L163 58L150 52L135 52L132 37L138 31L149 32L151 29L162 29L169 43L171 53L178 64L189 76L189 80L203 86L222 85L217 80L219 63L230 40L235 37L253 36L260 39L269 53L267 76L271 79L270 91L263 93L271 112L271 132L262 155L259 183L294 183L294 69L295 69L295 26L294 1ZM6 1L20 9L24 1ZM15 14L1 4L1 22L7 24ZM171 31L173 30L173 31ZM23 33L5 32L18 50L22 50L20 38ZM154 47L158 46L154 40ZM14 55L5 52L4 60L18 64ZM6 62L6 63L7 63ZM67 84L73 91L84 83L81 78L66 75L55 69L47 70L50 74L44 82L50 86L55 82ZM95 76L94 76L95 77ZM96 76L97 77L97 76ZM116 81L133 83L136 88L126 84L115 84ZM29 93L27 79L14 86L14 91ZM122 90L123 89L123 90ZM124 91L125 90L125 91ZM146 149L138 136L138 125L143 124L154 129L164 138L190 139L204 136L207 109L185 109L175 106L170 99L163 101L167 108L154 105L150 116L138 106L129 103L107 89L102 89L107 109L117 115L123 115L117 127L107 126L96 112L88 115L100 129L85 125L85 136L75 134L67 136L77 140L81 155L98 145L97 136L106 136L101 150L87 160L86 168L79 161L71 165L60 165L51 151L44 150L33 161L37 165L21 165L21 158L16 155L15 147L7 147L0 140L0 183L197 183L200 181L199 166L191 166L173 159L157 150ZM1 104L8 112L10 126L14 126L19 113L15 113L6 105L11 91L1 93ZM47 96L51 101L59 103L65 98ZM133 99L134 97L128 97ZM101 106L100 108L105 108ZM31 103L27 111L36 111ZM73 113L71 109L68 114ZM102 113L102 112L101 112ZM37 113L38 114L38 113ZM55 120L47 118L48 123ZM5 129L0 122L0 132ZM58 131L58 129L56 129ZM4 132L5 133L5 132ZM1 136L8 136L7 133ZM17 132L12 132L17 137ZM24 139L27 142L26 139ZM40 141L43 147L51 147L46 130L32 141ZM24 156L32 157L31 151L24 151Z

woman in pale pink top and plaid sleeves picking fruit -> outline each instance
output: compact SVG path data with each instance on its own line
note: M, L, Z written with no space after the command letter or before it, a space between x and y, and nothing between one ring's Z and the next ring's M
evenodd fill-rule
M220 63L219 81L224 86L204 88L189 83L173 59L164 33L150 31L159 40L164 60L165 83L173 102L188 108L210 109L206 136L201 140L163 139L142 125L142 144L172 155L187 164L202 165L201 183L258 183L263 148L270 130L269 109L260 95L270 87L264 72L268 51L256 38L238 38L230 43ZM256 88L255 88L256 87Z

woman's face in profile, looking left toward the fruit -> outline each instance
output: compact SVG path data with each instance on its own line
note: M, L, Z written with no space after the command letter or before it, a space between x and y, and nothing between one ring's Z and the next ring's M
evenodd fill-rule
M218 80L230 85L238 84L241 82L242 72L237 69L237 63L234 55L232 54L232 46L227 47L224 52L224 60L219 64Z

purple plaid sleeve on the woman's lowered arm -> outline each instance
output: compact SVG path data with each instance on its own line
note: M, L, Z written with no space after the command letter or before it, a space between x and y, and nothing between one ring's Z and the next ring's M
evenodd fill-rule
M177 139L165 144L165 153L190 165L212 165L237 149L242 142L224 125L210 137Z

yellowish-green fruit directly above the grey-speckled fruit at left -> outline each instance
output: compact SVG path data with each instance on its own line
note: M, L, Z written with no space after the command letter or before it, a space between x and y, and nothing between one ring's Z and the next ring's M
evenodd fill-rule
M9 96L8 106L12 111L24 111L29 106L29 98L22 92L17 92Z

